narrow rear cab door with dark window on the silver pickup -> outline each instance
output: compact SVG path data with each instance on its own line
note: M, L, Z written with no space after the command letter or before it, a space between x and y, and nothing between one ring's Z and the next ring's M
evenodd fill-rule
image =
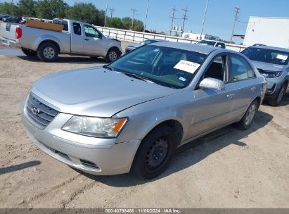
M71 53L83 53L84 49L84 30L81 23L72 22L70 28L71 34L71 44L70 51Z

